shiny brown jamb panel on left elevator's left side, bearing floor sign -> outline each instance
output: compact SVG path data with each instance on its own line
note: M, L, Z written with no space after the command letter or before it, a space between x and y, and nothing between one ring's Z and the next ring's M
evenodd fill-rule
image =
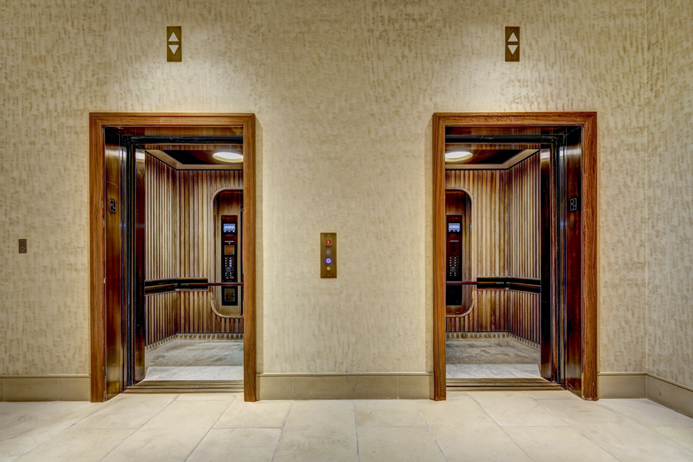
M105 398L124 388L123 155L119 136L105 131Z

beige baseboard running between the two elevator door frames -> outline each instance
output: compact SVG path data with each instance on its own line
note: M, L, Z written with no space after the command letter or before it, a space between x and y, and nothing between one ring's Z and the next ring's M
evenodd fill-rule
M430 398L430 373L258 374L260 400Z

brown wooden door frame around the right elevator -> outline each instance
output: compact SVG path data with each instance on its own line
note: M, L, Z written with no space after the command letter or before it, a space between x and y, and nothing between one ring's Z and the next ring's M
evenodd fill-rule
M582 129L582 398L597 399L597 113L498 112L433 114L433 397L446 399L445 127Z

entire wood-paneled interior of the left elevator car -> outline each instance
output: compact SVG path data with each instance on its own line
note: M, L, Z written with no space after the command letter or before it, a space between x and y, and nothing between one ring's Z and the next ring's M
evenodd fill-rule
M242 384L243 140L230 141L143 145L141 385Z

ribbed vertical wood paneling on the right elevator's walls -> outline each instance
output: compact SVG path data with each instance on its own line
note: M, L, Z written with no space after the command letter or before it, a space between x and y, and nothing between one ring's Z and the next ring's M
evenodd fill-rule
M472 199L472 280L541 277L539 179L538 154L509 170L446 170L446 189L466 190ZM473 292L473 310L446 317L447 332L508 331L538 343L538 294Z

